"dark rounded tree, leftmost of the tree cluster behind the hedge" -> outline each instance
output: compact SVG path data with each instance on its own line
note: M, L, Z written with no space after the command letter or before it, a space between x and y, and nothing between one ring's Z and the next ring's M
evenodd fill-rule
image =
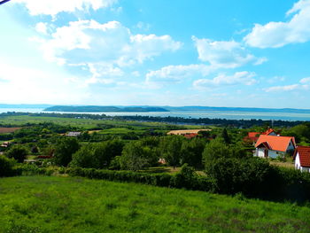
M75 137L65 136L58 139L55 147L55 163L58 166L66 167L71 162L74 152L79 150L80 144Z

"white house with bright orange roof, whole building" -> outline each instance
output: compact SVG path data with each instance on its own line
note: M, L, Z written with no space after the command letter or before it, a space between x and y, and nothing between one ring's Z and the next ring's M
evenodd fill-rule
M293 136L260 135L255 144L255 154L261 158L276 158L285 153L293 152L296 148Z

